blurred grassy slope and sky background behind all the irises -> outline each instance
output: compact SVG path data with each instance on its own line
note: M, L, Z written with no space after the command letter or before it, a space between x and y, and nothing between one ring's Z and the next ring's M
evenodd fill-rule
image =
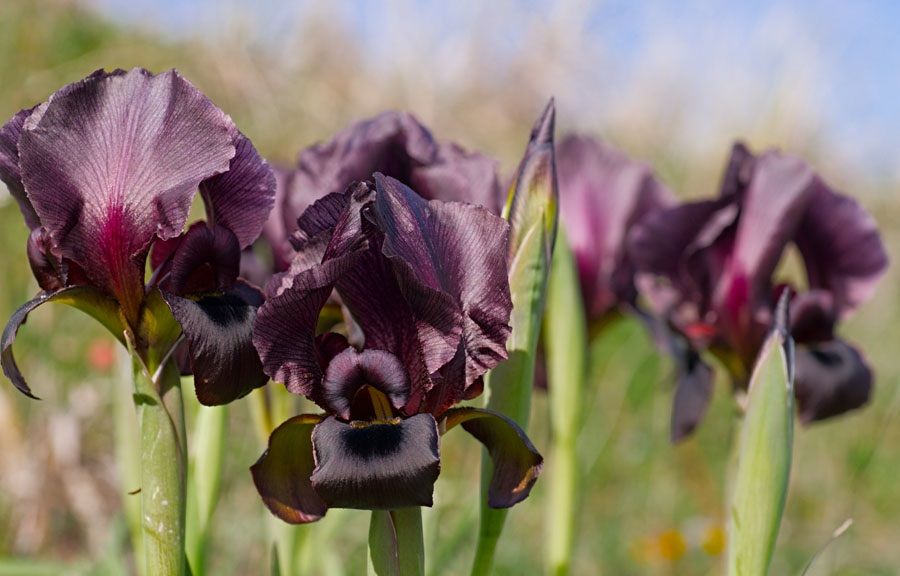
M716 193L735 138L805 155L873 211L896 261L898 21L900 4L877 0L0 0L0 117L100 67L175 67L273 162L400 108L509 170L555 96L560 132L607 138L683 196ZM37 290L25 239L0 195L4 320ZM810 573L900 573L898 286L892 270L844 327L877 373L870 406L797 432L773 574L798 574L847 518L853 526ZM127 554L110 411L126 383L114 343L79 313L47 306L16 351L44 400L0 385L0 575L116 573ZM718 574L734 410L724 378L700 432L672 447L671 366L641 330L614 325L592 365L576 572ZM532 421L535 444L547 446L540 396ZM261 447L249 428L238 403L211 574L264 573L265 512L247 471ZM433 574L467 573L471 561L480 453L467 440L444 442L426 516ZM539 482L511 513L497 573L542 566L544 506ZM367 523L364 512L333 511L313 525L322 545L309 573L364 570Z

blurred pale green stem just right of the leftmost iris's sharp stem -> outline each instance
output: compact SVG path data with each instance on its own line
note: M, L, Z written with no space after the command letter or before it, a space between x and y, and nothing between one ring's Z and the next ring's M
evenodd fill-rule
M186 379L184 381L188 383ZM228 432L228 406L202 406L194 413L193 450L188 469L187 545L188 563L193 576L206 573L210 522L219 499L222 466L225 460L225 436Z

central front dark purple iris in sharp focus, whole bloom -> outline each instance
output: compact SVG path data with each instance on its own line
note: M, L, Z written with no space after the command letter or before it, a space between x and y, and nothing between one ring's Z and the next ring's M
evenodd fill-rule
M254 343L267 374L325 413L279 426L252 467L274 514L303 523L330 507L430 506L439 439L457 424L494 461L491 504L528 496L543 460L525 433L499 414L453 407L480 394L507 356L508 235L483 207L426 201L380 173L303 213ZM332 290L352 345L317 335Z

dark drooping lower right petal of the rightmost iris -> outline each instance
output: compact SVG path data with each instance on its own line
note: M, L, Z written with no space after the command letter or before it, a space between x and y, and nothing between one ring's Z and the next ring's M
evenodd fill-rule
M872 394L872 370L843 340L797 346L794 394L804 423L860 408Z

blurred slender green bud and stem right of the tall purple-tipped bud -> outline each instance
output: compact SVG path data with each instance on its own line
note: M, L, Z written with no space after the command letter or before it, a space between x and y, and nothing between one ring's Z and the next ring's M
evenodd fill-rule
M581 469L578 436L584 421L587 322L575 259L560 227L547 286L544 316L552 466L547 507L547 573L571 572L578 520Z

